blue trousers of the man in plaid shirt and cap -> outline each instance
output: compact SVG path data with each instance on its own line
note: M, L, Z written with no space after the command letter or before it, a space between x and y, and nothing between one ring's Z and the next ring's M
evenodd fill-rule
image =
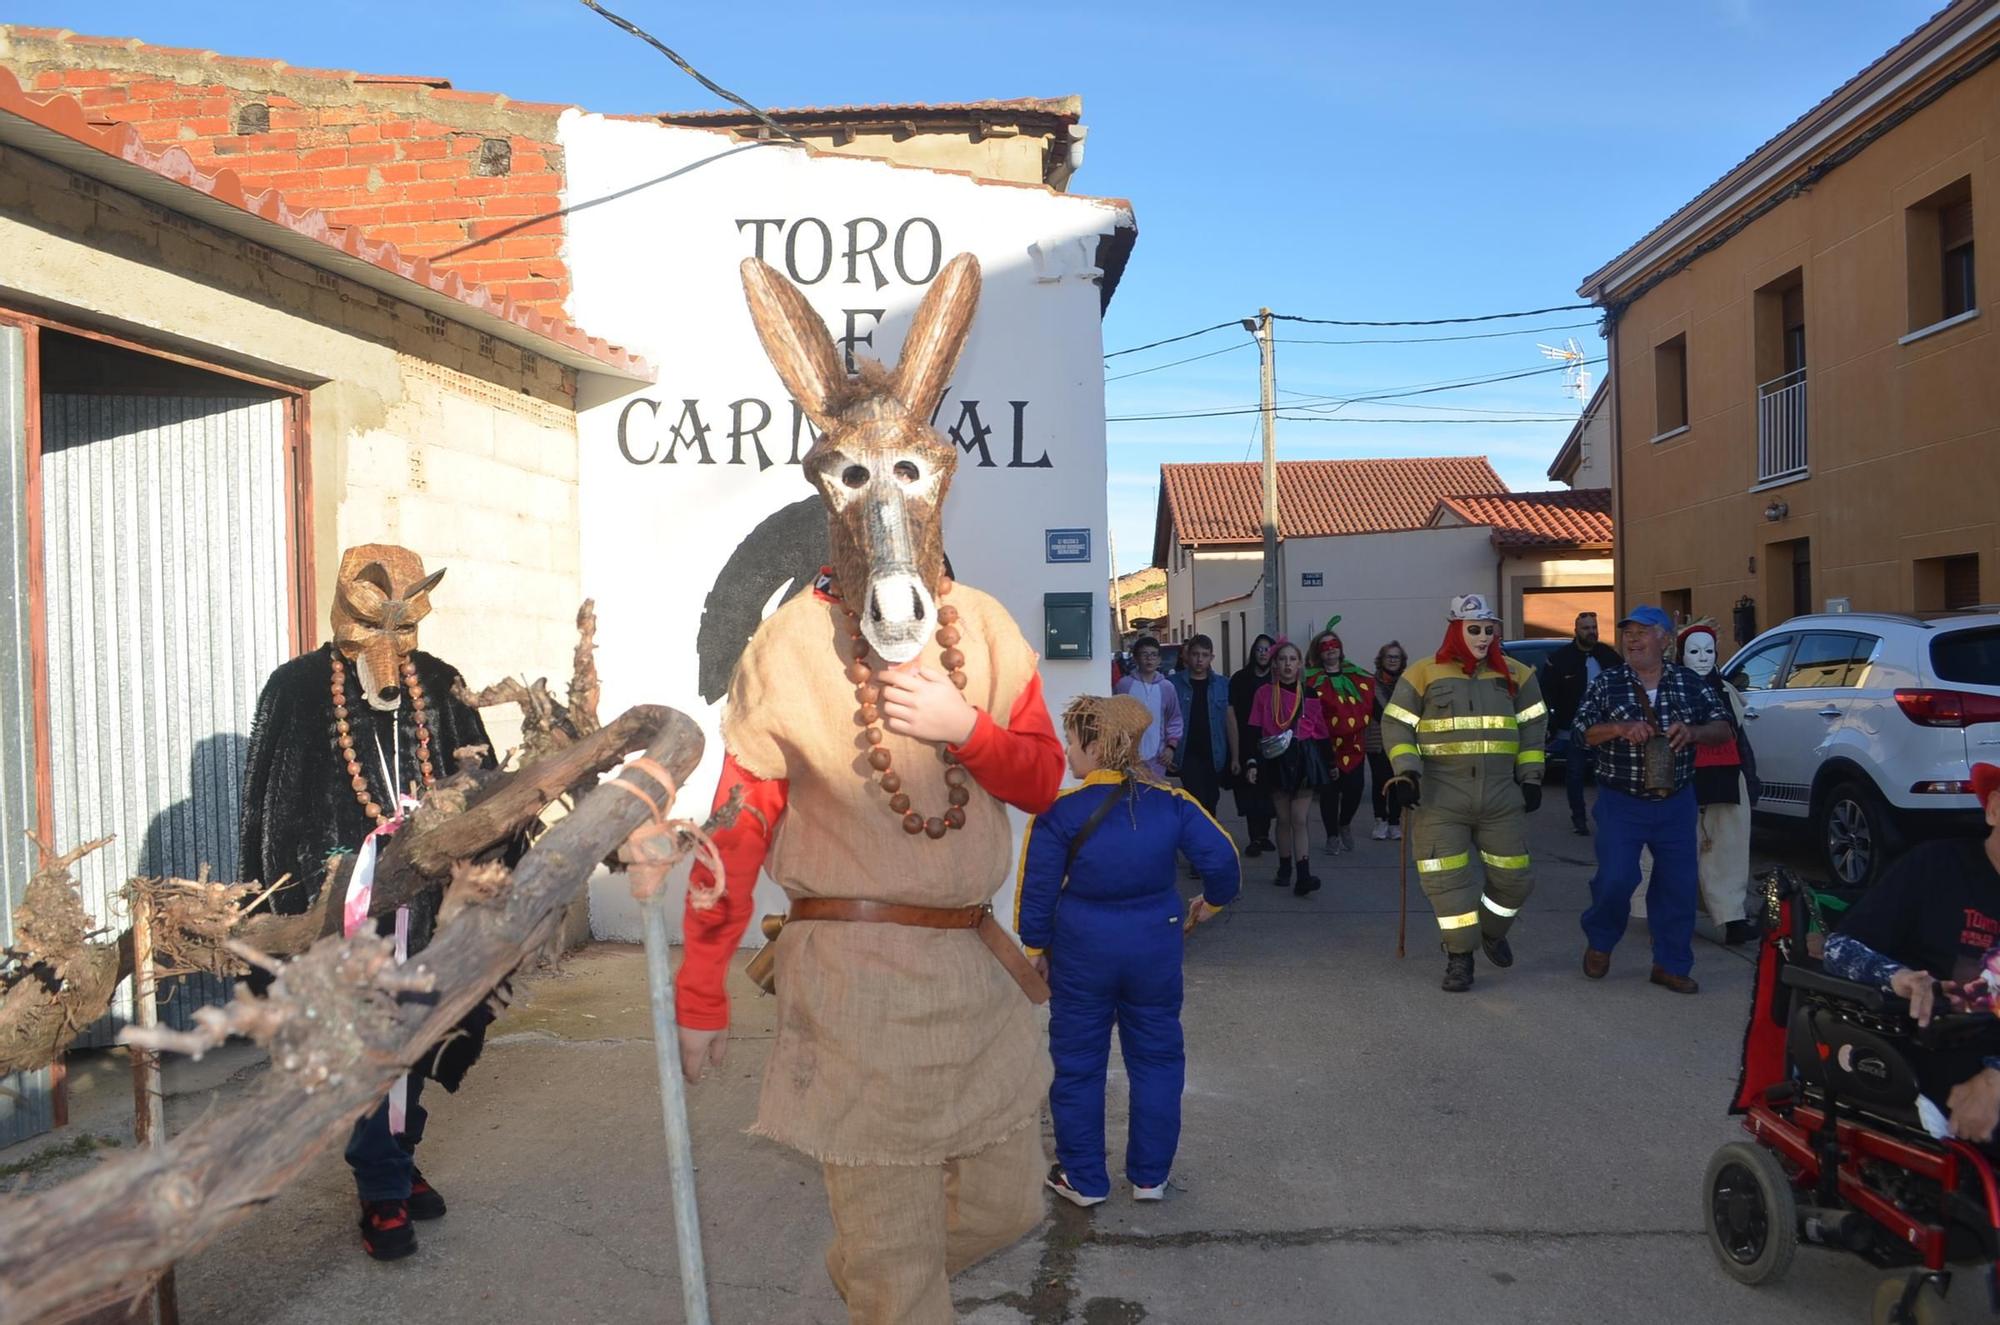
M1598 787L1598 873L1590 879L1590 909L1584 937L1590 947L1610 953L1632 919L1638 891L1638 855L1652 851L1652 887L1646 889L1646 925L1652 929L1652 961L1672 975L1694 969L1696 823L1694 787L1682 787L1664 801L1646 801L1610 787Z

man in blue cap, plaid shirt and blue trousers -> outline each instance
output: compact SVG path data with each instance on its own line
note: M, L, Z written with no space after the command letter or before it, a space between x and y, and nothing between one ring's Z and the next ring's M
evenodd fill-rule
M1636 606L1618 622L1624 667L1602 673L1584 691L1570 725L1574 751L1590 749L1598 775L1598 873L1582 927L1584 975L1604 979L1612 949L1632 917L1640 851L1652 851L1646 919L1652 927L1652 983L1696 993L1694 897L1698 885L1694 747L1734 739L1728 713L1708 685L1666 660L1672 618ZM1664 737L1674 753L1672 787L1646 787L1646 743Z

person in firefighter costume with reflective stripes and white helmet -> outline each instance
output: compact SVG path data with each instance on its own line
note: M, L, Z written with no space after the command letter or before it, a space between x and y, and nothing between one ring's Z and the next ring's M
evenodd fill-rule
M1546 727L1534 669L1500 650L1500 616L1484 594L1452 598L1444 646L1404 671L1382 711L1390 815L1414 809L1412 851L1444 933L1448 993L1472 989L1478 949L1514 965L1506 935L1534 891L1522 817L1542 807Z

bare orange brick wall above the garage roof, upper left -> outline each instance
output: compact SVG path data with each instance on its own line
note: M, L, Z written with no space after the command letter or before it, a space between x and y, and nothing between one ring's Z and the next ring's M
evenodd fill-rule
M564 106L52 28L0 26L0 66L100 124L132 124L154 150L180 146L200 170L234 170L250 190L562 312Z

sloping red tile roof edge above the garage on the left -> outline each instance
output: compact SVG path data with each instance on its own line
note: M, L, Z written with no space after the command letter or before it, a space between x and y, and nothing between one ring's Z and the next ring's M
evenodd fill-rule
M138 166L140 170L164 180L198 190L216 202L274 226L282 226L294 234L324 244L334 252L358 258L360 262L388 272L390 276L416 282L418 286L464 304L466 308L510 322L534 340L570 350L570 354L556 354L554 358L580 354L628 376L652 376L646 360L638 354L630 354L620 346L586 336L576 326L570 326L560 318L542 316L524 304L516 304L510 298L494 294L486 286L466 284L452 272L442 276L434 274L430 270L430 262L424 258L406 260L400 252L396 252L394 244L376 244L358 228L336 226L328 222L324 212L292 210L284 196L274 188L250 194L238 182L234 170L204 174L194 168L194 162L180 148L150 152L140 140L138 130L130 124L108 124L102 128L90 124L84 108L68 96L48 96L38 100L38 96L26 94L14 74L4 68L0 68L0 116L16 116L52 134L60 134L78 146L102 152L104 156ZM66 164L76 166L74 162ZM548 344L540 346L540 352L546 354Z

